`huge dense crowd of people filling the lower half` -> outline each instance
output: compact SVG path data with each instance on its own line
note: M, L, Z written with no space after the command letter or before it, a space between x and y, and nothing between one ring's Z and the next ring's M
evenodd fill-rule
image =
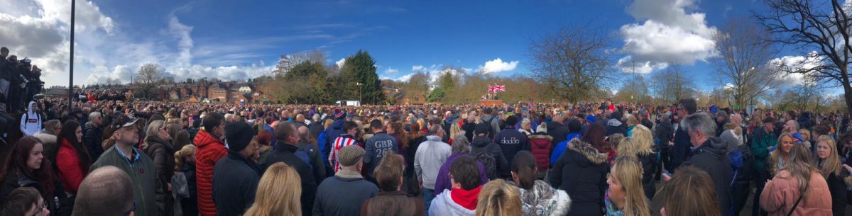
M838 113L695 99L26 108L0 145L2 215L820 216L852 201Z

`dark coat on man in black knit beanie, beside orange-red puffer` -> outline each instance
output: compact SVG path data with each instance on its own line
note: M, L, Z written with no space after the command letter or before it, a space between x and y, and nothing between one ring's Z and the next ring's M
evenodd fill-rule
M262 171L257 164L229 151L213 168L216 215L242 215L255 202Z

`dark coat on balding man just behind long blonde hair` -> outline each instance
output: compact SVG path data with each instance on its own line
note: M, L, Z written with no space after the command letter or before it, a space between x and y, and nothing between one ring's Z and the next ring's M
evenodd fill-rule
M267 161L262 165L263 169L271 167L276 162L284 162L287 165L296 168L296 173L299 173L299 179L302 180L302 215L310 215L314 209L314 196L317 190L316 180L314 180L314 171L308 166L308 163L302 161L302 158L296 156L294 152L298 150L296 145L278 143L270 152Z

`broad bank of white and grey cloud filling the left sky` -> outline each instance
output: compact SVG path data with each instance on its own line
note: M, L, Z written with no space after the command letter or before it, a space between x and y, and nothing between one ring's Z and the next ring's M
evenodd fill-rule
M68 83L71 3L65 0L0 0L0 42L20 58L29 57L43 70L47 86ZM74 83L95 84L130 82L138 66L157 62L166 77L216 77L222 80L245 80L268 74L271 66L262 61L246 64L259 57L245 53L245 48L219 52L216 60L201 59L194 52L193 26L180 22L174 12L165 17L164 29L149 37L130 37L116 20L90 1L78 1L74 50ZM134 33L135 34L135 33ZM325 37L325 36L316 36ZM315 37L310 37L315 38ZM309 39L297 37L262 38L264 43ZM245 44L245 43L244 43ZM254 43L251 43L254 44ZM245 46L245 45L244 45ZM258 45L259 46L259 45ZM208 52L209 50L202 50ZM229 55L221 55L227 53ZM200 55L204 56L204 53Z

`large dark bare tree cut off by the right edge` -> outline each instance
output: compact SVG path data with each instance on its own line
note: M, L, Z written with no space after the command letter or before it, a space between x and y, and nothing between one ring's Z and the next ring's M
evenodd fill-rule
M813 73L817 80L832 81L842 86L846 109L852 109L852 85L849 82L852 20L847 14L849 6L838 0L767 0L766 3L771 11L755 14L755 17L774 34L769 42L796 46L804 56L815 55L813 57L822 61L819 65L799 66L789 72ZM831 5L826 5L828 3Z

